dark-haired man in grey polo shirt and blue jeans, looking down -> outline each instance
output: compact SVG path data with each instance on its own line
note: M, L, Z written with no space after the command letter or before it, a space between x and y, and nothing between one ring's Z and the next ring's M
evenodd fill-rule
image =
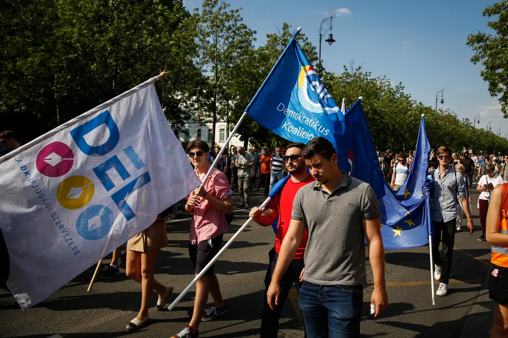
M307 228L304 283L299 293L307 336L360 337L363 284L367 282L365 239L374 276L371 303L376 306L375 317L388 306L377 199L369 184L339 170L337 154L328 140L312 139L301 156L315 182L296 194L267 300L272 309L278 304L279 282Z

